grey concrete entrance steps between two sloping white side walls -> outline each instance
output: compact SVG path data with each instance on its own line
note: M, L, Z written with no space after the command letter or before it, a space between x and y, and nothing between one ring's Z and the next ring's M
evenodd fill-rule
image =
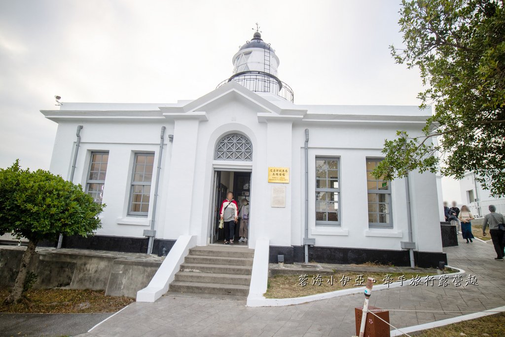
M254 250L236 246L205 246L189 250L169 292L246 297Z

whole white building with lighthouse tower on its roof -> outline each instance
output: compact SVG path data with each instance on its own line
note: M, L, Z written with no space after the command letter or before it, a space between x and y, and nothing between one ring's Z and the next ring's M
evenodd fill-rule
M409 265L409 248L419 266L446 261L435 175L411 173L410 208L405 179L371 175L384 139L421 135L430 109L297 105L260 32L232 63L230 78L190 101L41 110L58 123L51 171L74 172L74 183L107 204L96 235L64 237L63 247L162 254L181 235L221 245L219 206L232 191L250 205L241 245L266 240L270 262L307 253L317 262Z

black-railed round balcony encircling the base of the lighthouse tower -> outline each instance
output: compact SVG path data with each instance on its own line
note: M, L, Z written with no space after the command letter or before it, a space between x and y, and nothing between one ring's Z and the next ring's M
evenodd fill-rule
M225 79L216 87L235 81L255 92L271 92L289 102L294 101L293 89L277 77L262 71L246 71Z

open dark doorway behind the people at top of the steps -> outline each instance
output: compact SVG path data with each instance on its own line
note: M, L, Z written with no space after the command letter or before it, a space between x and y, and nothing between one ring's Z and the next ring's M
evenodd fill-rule
M221 216L221 204L226 199L226 194L228 192L233 192L233 199L237 202L238 209L241 209L242 200L245 199L247 204L250 201L250 182L251 182L251 172L239 172L239 171L214 171L214 195L213 195L213 217L211 219L211 244L223 244L224 242L224 228L219 228L219 220ZM250 209L250 208L249 208ZM243 212L242 212L243 214ZM249 217L247 215L247 221L244 227L247 231L243 230L242 235L248 239L249 232ZM245 218L245 216L244 216ZM245 220L245 219L244 219ZM239 242L240 238L240 221L235 225L235 246L246 246L247 242Z

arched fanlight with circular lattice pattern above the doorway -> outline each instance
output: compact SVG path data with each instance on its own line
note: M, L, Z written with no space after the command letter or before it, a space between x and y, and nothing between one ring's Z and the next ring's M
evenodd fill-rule
M244 135L232 133L224 136L216 147L216 160L252 161L252 145Z

